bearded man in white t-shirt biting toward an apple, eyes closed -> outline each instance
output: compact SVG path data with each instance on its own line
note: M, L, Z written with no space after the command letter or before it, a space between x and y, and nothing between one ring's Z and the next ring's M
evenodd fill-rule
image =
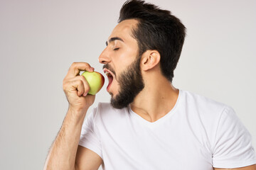
M256 170L250 134L232 108L172 86L186 28L144 1L127 1L99 57L111 103L99 103L73 63L69 108L45 169ZM81 132L82 131L82 132Z

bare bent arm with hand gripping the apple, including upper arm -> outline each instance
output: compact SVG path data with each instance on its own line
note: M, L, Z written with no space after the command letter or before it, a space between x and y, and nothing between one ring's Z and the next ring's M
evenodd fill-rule
M63 90L68 99L69 108L63 125L50 147L44 170L97 169L102 159L84 147L78 147L82 123L87 109L95 101L95 96L87 95L90 87L81 70L93 71L85 62L73 63L63 80Z

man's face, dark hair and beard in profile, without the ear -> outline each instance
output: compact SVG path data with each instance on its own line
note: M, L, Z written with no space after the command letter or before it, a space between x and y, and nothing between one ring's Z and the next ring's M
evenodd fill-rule
M169 81L181 54L185 27L169 11L144 1L127 1L122 6L119 24L114 28L99 60L105 64L112 95L112 106L124 108L144 89L142 55L159 55L161 74Z

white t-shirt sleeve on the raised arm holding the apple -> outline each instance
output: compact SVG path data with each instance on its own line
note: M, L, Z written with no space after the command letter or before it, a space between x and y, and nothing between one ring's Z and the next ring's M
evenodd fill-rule
M94 108L92 110L92 113L90 113L90 115L88 115L85 119L82 125L80 141L78 145L92 150L102 158L102 147L100 143L100 137L97 134L97 127L95 125L96 113L97 109Z

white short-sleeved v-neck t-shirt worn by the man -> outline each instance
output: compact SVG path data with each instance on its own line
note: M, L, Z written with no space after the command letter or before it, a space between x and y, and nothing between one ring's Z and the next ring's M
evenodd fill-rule
M250 133L232 108L179 91L174 108L150 123L131 108L99 103L82 125L79 145L103 169L212 170L256 164Z

